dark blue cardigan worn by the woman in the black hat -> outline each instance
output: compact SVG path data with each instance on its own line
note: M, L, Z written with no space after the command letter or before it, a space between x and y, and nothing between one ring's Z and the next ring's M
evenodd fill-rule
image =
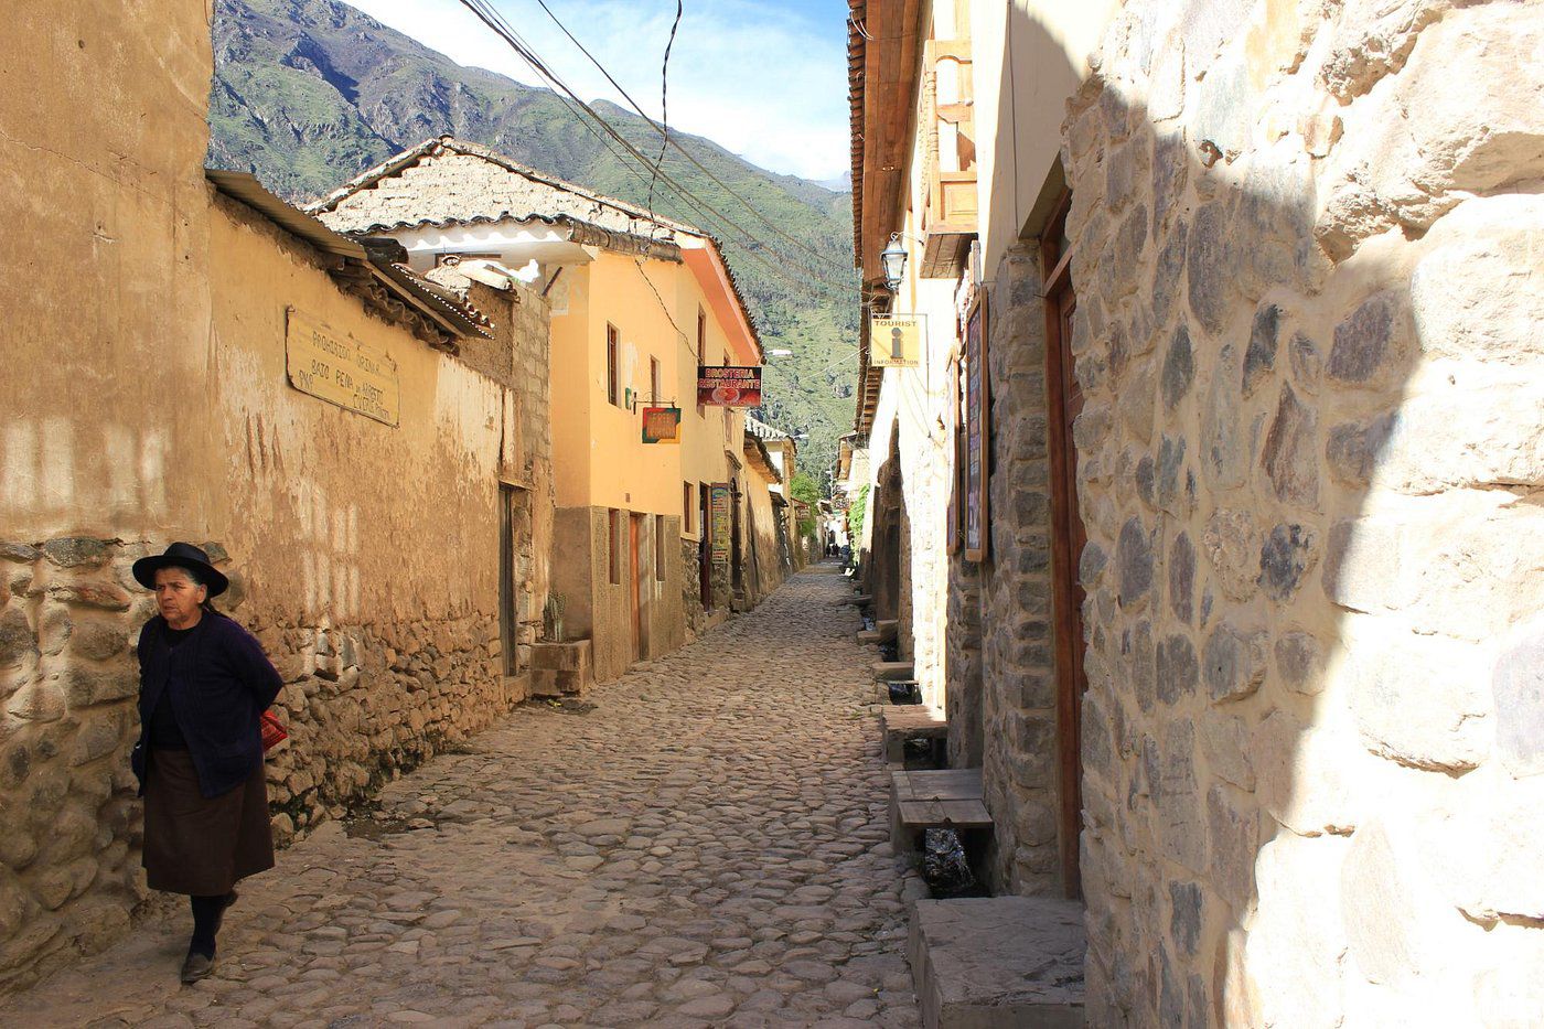
M139 743L133 754L141 791L150 715L167 689L198 771L199 793L218 797L262 763L258 717L283 686L252 633L224 615L205 612L176 649L168 643L165 618L147 621L139 630Z

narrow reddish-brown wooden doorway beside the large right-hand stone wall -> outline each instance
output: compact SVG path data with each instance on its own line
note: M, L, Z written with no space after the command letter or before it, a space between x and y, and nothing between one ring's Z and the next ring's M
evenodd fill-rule
M1041 236L1045 297L1045 383L1051 467L1051 609L1056 627L1056 777L1061 870L1068 898L1082 896L1078 834L1082 830L1082 601L1078 561L1089 533L1078 511L1078 448L1072 425L1082 411L1082 389L1073 372L1072 326L1078 309L1070 275L1072 249L1065 236L1070 195L1062 193Z

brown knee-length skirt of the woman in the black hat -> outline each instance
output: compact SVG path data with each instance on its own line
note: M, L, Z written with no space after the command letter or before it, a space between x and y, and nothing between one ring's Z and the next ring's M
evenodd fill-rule
M218 797L198 788L187 751L154 749L145 782L145 878L151 890L221 896L273 867L269 786L259 763Z

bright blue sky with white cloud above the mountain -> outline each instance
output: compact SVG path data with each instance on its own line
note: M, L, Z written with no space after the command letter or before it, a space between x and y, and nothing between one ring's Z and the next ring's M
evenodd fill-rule
M457 0L344 0L462 65L537 82ZM536 0L494 0L587 100L625 102ZM659 116L675 0L547 0L639 105ZM686 0L670 54L670 124L809 179L848 170L846 0Z

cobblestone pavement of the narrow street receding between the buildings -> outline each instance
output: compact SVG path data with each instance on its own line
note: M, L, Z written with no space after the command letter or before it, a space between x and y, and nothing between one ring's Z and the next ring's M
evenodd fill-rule
M919 1024L845 596L795 576L388 785L241 887L210 980L179 987L167 905L0 1024Z

